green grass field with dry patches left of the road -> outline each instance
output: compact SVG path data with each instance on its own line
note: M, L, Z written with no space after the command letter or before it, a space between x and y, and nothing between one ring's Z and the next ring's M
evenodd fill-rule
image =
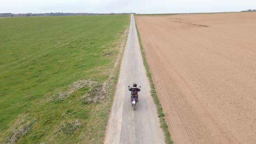
M102 143L129 19L0 19L0 143Z

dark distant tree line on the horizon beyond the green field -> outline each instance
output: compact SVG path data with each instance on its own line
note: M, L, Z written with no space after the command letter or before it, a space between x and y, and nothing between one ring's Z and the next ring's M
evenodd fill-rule
M135 14L135 13L0 13L0 17L17 16L89 16L89 15L110 15L110 14Z

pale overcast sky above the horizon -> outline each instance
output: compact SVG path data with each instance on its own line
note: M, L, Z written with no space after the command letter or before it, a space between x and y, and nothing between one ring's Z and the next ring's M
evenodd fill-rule
M256 9L256 0L0 0L0 13L198 13Z

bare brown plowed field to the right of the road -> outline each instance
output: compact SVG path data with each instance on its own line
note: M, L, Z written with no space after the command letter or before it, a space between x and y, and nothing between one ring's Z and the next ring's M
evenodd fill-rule
M256 142L256 13L137 16L174 143Z

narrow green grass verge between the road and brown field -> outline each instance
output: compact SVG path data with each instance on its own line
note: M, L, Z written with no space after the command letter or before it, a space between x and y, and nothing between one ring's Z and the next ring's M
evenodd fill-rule
M136 26L136 30L137 30L138 41L139 41L139 45L140 45L140 49L141 49L141 55L142 55L142 59L143 59L143 64L144 64L144 67L146 69L146 74L147 74L148 81L149 81L150 88L151 88L151 92L150 92L151 93L151 97L153 98L154 103L155 103L155 105L157 107L158 118L160 119L160 127L162 128L162 130L164 132L165 142L167 144L173 144L173 141L171 139L171 134L170 134L170 132L168 130L168 125L166 124L166 121L164 119L164 113L163 113L161 104L159 102L159 99L158 99L158 96L157 96L157 93L156 93L156 90L155 90L155 87L154 87L153 79L152 79L151 73L149 71L148 63L146 61L146 57L145 57L144 49L143 49L143 46L142 46L142 43L141 43L141 36L139 34L139 31L138 31L136 19L135 19L135 26Z

